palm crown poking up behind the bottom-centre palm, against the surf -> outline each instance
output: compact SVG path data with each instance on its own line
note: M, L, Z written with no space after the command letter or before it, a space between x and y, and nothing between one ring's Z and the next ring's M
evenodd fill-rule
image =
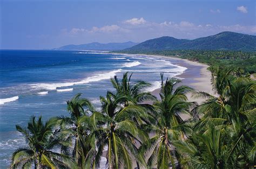
M126 96L126 100L123 101L124 106L156 100L155 96L153 96L150 92L145 91L145 89L151 86L150 83L138 81L132 84L131 76L132 73L130 76L128 76L128 72L126 72L124 73L121 82L119 82L117 76L110 79L113 88L116 89L116 94Z

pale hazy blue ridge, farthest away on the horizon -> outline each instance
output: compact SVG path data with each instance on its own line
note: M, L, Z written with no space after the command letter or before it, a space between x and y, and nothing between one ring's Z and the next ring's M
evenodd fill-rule
M82 45L66 45L59 48L54 48L53 50L123 50L125 48L132 47L138 43L133 43L132 41L127 41L125 43L90 43Z

